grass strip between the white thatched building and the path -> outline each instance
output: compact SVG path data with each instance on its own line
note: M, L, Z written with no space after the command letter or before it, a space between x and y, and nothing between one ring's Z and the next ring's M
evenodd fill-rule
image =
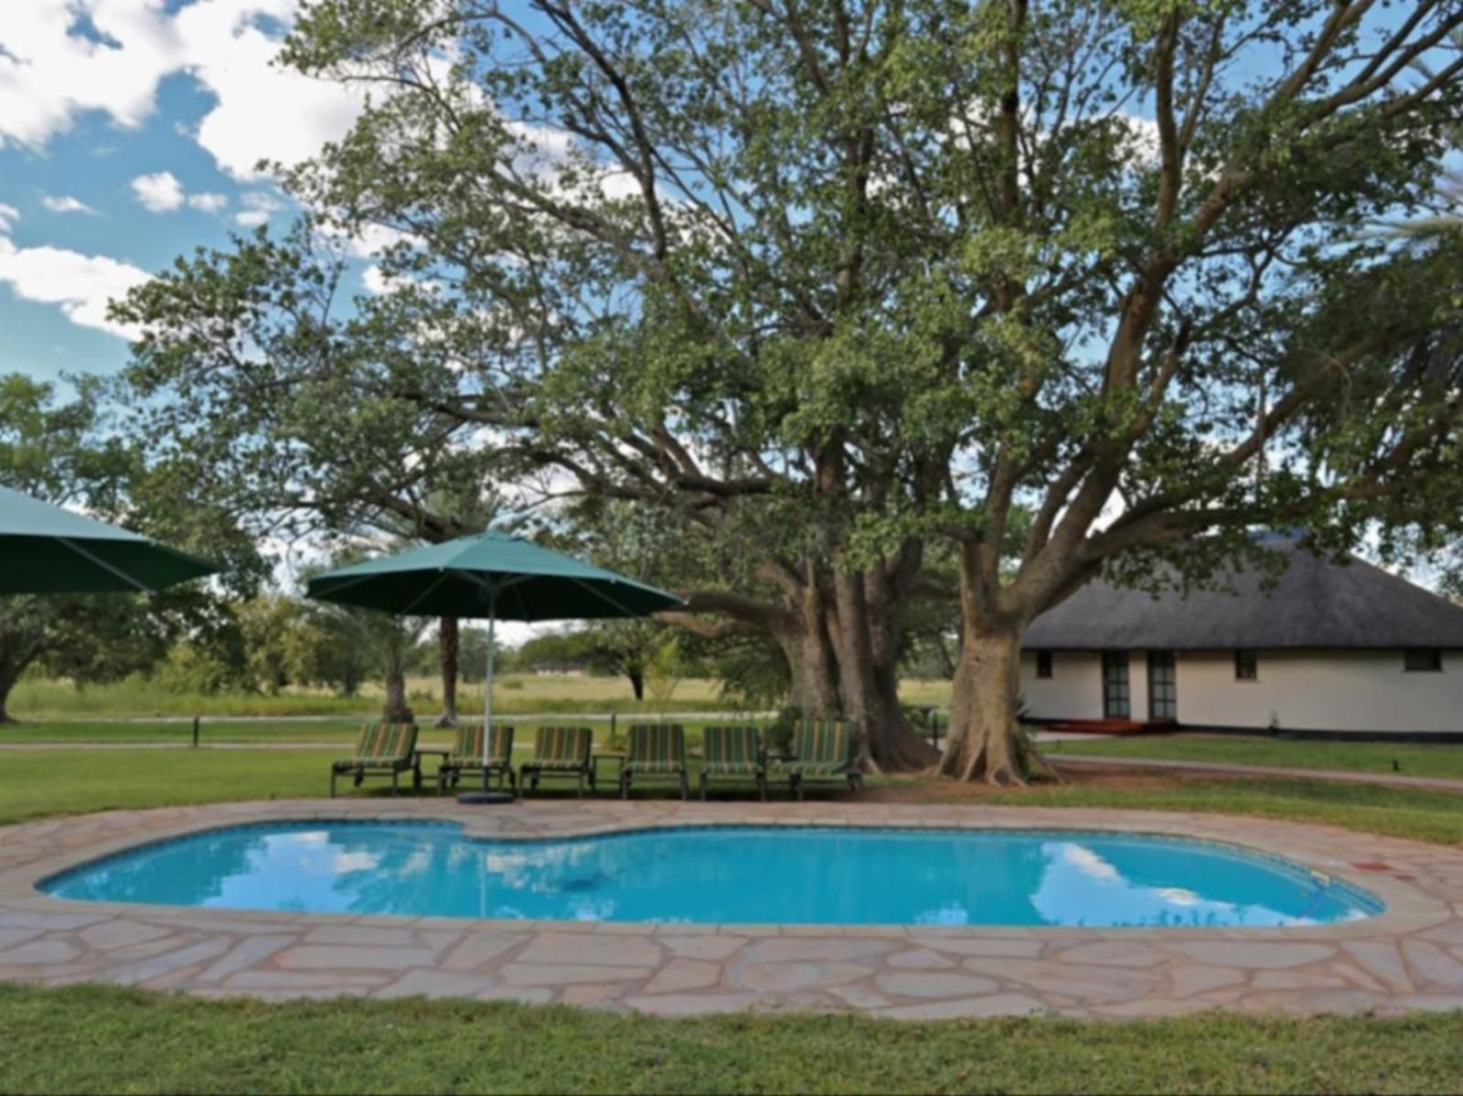
M1463 745L1404 742L1317 742L1249 736L1144 735L1141 737L1053 742L1053 754L1110 758L1206 761L1342 773L1402 773L1463 780ZM1396 762L1396 768L1393 768Z

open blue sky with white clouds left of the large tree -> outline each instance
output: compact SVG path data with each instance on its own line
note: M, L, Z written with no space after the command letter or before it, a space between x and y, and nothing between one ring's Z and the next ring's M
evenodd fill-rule
M181 253L284 227L260 159L345 133L356 94L274 66L297 0L4 0L0 372L114 372L107 318Z

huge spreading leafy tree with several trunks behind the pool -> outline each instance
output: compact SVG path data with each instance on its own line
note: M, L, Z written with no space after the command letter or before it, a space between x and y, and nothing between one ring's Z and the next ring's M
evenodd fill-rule
M1457 241L1364 230L1432 187L1459 25L1444 0L317 0L285 60L375 98L290 176L301 240L395 241L357 320L394 350L307 376L710 536L739 581L692 606L778 637L885 764L928 757L897 653L952 544L941 764L1020 778L1021 632L1105 566L1203 579L1248 525L1457 524ZM142 291L142 369L296 391L227 357L296 296L199 319L271 246ZM370 345L265 326L296 359Z

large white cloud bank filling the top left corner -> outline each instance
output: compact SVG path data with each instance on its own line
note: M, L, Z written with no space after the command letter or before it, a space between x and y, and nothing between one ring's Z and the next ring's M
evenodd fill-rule
M19 12L12 10L19 6ZM193 138L225 173L260 159L296 162L345 133L363 92L272 66L298 0L9 0L0 50L0 146L42 148L89 111L136 129L161 80L187 73L214 97ZM105 40L75 32L80 18Z

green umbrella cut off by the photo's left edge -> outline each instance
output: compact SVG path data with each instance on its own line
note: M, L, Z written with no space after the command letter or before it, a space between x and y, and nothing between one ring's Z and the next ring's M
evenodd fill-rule
M218 568L0 487L0 594L151 594Z

